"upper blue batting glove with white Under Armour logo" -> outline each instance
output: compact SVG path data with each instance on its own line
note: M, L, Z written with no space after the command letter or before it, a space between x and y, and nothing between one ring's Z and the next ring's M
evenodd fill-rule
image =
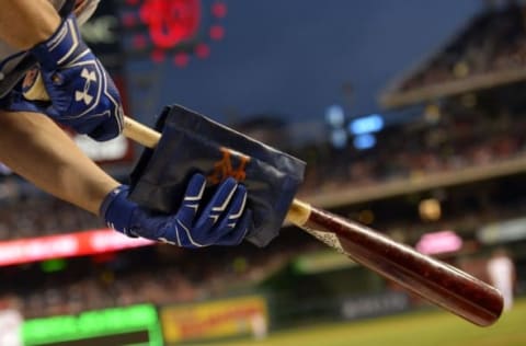
M30 53L39 64L50 103L24 100L25 85L19 85L22 90L13 91L9 111L44 113L96 140L108 140L121 134L124 115L118 91L82 41L72 14L52 37Z

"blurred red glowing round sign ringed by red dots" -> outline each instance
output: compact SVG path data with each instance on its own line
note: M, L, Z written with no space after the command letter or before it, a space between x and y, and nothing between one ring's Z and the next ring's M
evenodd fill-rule
M149 54L155 62L171 56L178 67L187 66L191 56L205 59L210 42L225 36L220 23L227 15L225 1L126 0L122 23L125 32L134 33L126 47L134 55Z

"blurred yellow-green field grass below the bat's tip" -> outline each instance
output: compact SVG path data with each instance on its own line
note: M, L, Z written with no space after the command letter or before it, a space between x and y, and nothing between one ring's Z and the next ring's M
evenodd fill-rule
M526 346L526 300L492 326L478 327L442 311L272 333L263 341L228 346Z

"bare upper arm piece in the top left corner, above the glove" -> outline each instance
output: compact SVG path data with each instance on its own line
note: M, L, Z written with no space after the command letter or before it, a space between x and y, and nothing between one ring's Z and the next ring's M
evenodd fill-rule
M0 41L28 49L47 39L60 24L48 0L4 0L0 10Z

